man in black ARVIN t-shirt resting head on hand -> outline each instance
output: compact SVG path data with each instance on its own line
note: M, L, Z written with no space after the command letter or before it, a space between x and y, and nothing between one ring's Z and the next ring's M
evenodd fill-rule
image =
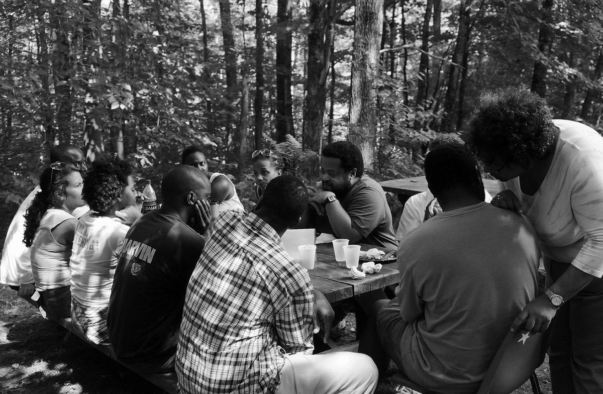
M174 371L186 286L209 226L211 186L203 171L180 165L165 174L161 188L161 208L125 236L107 314L118 360L149 373ZM195 229L186 224L191 219Z

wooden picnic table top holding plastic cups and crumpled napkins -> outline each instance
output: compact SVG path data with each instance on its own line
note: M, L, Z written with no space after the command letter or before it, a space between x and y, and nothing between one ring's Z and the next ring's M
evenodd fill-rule
M366 244L360 245L361 250L374 247ZM383 250L389 252L389 250ZM333 244L318 244L316 251L314 269L309 271L310 278L314 288L321 291L329 302L344 300L400 282L396 261L383 264L380 272L367 273L365 278L352 279L350 278L350 270L346 267L346 262L335 261Z

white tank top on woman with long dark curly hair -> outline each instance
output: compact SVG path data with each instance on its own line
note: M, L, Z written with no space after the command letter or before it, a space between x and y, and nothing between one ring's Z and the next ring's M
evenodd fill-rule
M71 245L58 243L51 232L54 227L68 219L75 219L75 217L63 209L48 209L36 230L30 250L31 273L33 273L38 291L69 286Z

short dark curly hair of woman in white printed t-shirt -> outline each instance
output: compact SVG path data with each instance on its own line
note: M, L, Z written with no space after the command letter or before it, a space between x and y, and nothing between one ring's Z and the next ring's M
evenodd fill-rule
M81 196L90 209L108 214L128 186L132 171L133 165L119 157L96 160L84 177Z

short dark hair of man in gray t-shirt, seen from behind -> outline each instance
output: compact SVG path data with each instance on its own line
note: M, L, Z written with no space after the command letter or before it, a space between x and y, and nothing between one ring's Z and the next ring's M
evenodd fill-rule
M429 190L439 198L444 191L463 187L485 199L478 160L460 142L439 144L425 156L425 178Z

